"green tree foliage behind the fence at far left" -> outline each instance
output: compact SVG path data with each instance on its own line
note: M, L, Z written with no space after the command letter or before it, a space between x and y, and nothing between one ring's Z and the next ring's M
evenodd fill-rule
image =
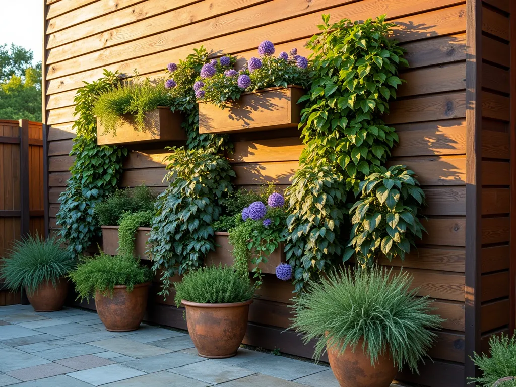
M0 119L41 122L41 62L21 46L0 45Z

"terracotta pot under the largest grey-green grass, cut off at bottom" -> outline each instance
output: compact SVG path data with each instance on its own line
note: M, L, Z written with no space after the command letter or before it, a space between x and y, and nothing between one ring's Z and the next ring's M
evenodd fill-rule
M346 348L339 353L340 348L328 348L330 366L341 387L389 387L396 376L395 367L389 354L378 356L378 362L371 365L371 360L362 350L363 340L357 344L354 352Z

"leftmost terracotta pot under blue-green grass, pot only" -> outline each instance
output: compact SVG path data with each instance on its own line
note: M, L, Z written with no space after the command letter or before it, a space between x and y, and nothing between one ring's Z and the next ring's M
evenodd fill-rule
M56 287L52 281L41 283L36 292L30 294L25 289L27 298L36 312L55 312L63 309L68 294L68 280L60 277L56 281Z

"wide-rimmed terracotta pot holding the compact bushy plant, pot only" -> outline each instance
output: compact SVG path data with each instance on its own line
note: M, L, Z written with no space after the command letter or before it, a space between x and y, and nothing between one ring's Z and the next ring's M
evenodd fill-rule
M244 340L253 300L227 304L201 304L181 301L186 323L199 356L208 359L231 358Z

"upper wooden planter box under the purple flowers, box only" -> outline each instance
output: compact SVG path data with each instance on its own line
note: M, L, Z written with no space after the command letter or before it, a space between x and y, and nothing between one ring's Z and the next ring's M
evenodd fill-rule
M201 102L199 132L240 133L297 127L302 110L297 101L304 93L299 86L263 89L242 94L224 109Z

